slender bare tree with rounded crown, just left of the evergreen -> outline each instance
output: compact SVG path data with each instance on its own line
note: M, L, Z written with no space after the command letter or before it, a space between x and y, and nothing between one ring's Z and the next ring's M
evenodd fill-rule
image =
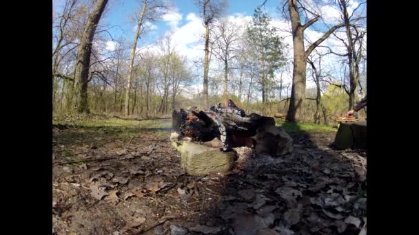
M214 39L214 49L212 49L212 53L218 60L222 61L224 66L223 100L227 106L229 61L237 56L237 42L240 39L241 27L228 19L221 19L221 21L218 21L214 25L214 32L216 38Z

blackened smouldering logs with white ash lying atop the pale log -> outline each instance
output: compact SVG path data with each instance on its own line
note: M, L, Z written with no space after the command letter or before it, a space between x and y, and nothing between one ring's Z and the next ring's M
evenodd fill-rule
M173 128L179 131L181 136L190 137L196 142L221 139L224 151L236 146L254 147L257 144L255 136L258 130L265 130L265 127L269 126L276 128L273 117L264 117L256 113L247 115L232 100L229 100L227 107L218 103L207 111L198 111L196 107L175 110L172 117Z

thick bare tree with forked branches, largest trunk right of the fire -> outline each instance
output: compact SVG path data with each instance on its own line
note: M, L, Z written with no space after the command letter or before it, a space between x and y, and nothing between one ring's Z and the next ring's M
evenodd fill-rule
M307 9L307 3L303 0L287 0L289 19L292 25L292 36L294 45L294 68L292 72L292 90L291 98L289 100L289 109L287 113L287 120L294 122L296 120L296 113L300 110L303 100L305 97L305 83L306 83L306 69L307 69L307 58L309 54L318 46L320 43L325 41L339 27L345 26L345 23L340 23L331 27L323 36L318 38L317 41L311 43L307 49L304 46L304 31L310 25L313 25L320 19L320 15ZM301 21L300 14L304 14L304 18L311 18L306 23Z

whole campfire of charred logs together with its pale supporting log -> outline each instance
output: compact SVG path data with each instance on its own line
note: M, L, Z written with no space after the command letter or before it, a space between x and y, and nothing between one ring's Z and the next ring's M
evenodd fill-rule
M207 111L196 107L174 110L170 139L182 153L181 166L190 175L226 172L234 163L232 148L247 146L256 154L284 155L292 151L292 137L275 126L273 117L247 115L229 100Z

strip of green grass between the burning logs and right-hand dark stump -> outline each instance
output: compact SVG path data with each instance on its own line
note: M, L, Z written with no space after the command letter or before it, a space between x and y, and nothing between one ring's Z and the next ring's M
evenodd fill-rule
M337 129L332 126L304 122L286 122L284 120L276 120L276 126L281 126L285 129L285 131L294 133L319 133L337 131Z

